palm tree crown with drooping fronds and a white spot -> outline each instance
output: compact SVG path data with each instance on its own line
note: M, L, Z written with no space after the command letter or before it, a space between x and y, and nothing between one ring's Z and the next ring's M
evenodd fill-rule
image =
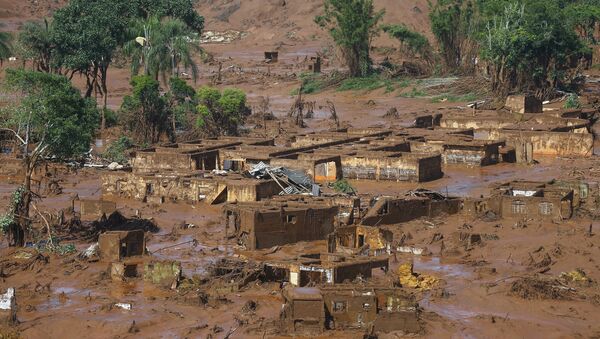
M132 73L144 74L158 80L162 75L179 77L180 67L190 69L194 81L198 76L198 66L193 60L194 53L202 49L190 38L192 30L179 19L161 21L157 17L138 20L130 29L130 41L123 48L131 58Z

